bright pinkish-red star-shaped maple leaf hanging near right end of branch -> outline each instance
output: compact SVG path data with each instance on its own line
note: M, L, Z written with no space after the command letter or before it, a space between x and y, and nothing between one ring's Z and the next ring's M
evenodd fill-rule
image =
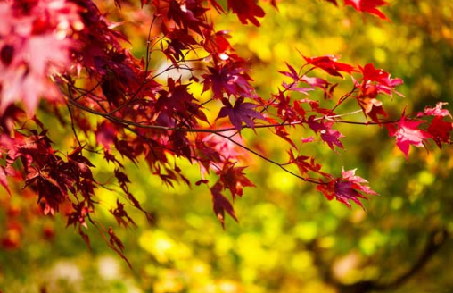
M406 160L408 160L409 147L411 145L424 147L424 139L432 138L429 132L418 129L418 126L424 122L426 121L410 121L403 113L397 128L394 125L386 125L389 135L396 138L397 146L406 155Z

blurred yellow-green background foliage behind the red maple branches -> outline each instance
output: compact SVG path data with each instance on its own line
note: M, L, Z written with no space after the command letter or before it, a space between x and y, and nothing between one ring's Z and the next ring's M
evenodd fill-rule
M220 1L221 2L221 1ZM222 3L222 2L221 2ZM405 84L405 96L382 97L389 115L398 119L422 111L425 105L449 102L453 95L453 2L451 0L389 1L386 22L357 13L350 6L326 1L284 0L278 12L263 3L261 28L243 26L235 15L212 14L217 29L230 30L230 42L249 58L259 95L276 93L284 77L284 62L303 64L306 56L342 55L345 63L374 63ZM145 7L146 9L146 7ZM111 6L111 11L114 8ZM113 13L114 14L114 13ZM123 9L120 20L140 25L147 13ZM146 30L146 28L144 28ZM131 31L125 31L131 35ZM140 36L139 34L137 35ZM132 38L140 57L144 39ZM130 46L130 45L129 45ZM164 62L156 55L154 64ZM157 66L157 65L156 65ZM336 93L349 90L351 80L339 82ZM194 94L202 88L194 85ZM205 94L206 96L207 94ZM202 96L199 96L202 98ZM332 103L322 101L322 103ZM326 105L328 106L328 105ZM354 103L341 111L357 110ZM215 117L214 117L215 118ZM42 113L40 119L53 117ZM90 227L92 251L64 219L37 217L36 197L27 190L0 196L0 289L40 293L264 293L264 292L453 292L453 150L434 145L411 149L409 160L386 130L372 126L342 126L346 151L307 148L326 172L358 168L380 197L365 203L367 212L329 202L309 184L279 168L250 157L245 169L257 188L246 188L236 199L239 223L227 219L226 229L214 213L206 188L168 188L144 172L146 165L128 163L130 191L155 222L130 209L137 229L117 229L133 269ZM268 130L244 134L249 145L272 140L268 156L286 160L289 146ZM309 133L309 132L307 132ZM68 141L67 131L55 127L51 138ZM65 140L66 139L66 140ZM109 167L93 157L95 178L111 180ZM199 170L181 162L190 180ZM190 175L192 174L192 175ZM98 190L105 202L118 194ZM97 211L105 226L116 226L110 213Z

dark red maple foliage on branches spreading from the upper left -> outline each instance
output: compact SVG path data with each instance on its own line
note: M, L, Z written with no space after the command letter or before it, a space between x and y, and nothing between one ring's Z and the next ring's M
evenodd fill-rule
M123 29L130 24L109 20L96 1L0 1L0 183L10 194L12 188L32 192L42 213L62 213L88 244L84 227L95 225L112 249L119 254L123 249L114 231L95 220L96 208L104 208L96 190L109 183L94 177L93 155L114 166L111 175L124 197L110 212L120 226L135 224L126 204L152 221L129 192L124 159L145 161L147 172L170 187L178 182L206 186L224 224L226 213L236 219L233 200L243 196L243 188L255 186L246 175L244 154L315 185L329 200L362 206L360 200L377 195L367 180L355 170L325 172L322 158L304 155L307 144L338 152L344 148L337 130L342 123L387 131L407 160L411 147L451 143L445 103L419 113L401 107L399 117L389 117L385 101L402 96L403 80L373 63L342 63L339 56L308 56L294 48L300 63L282 64L281 86L259 95L249 61L228 41L234 31L216 29L211 16L234 13L243 25L259 27L265 17L261 6L278 9L278 1L134 2L115 0L118 10L136 5L150 16L143 55L126 49L130 36ZM382 0L318 4L326 2L390 21ZM153 66L156 55L168 60L166 67ZM339 82L350 90L337 93ZM200 84L208 98L195 98L193 84ZM323 100L334 106L325 108ZM363 121L348 120L352 113L342 112L346 103L355 103ZM207 115L212 112L214 119ZM41 122L42 113L57 117L72 133L70 149L55 147L48 136L55 126ZM244 131L259 140L265 130L287 142L286 162L269 157L266 144L250 146L243 139ZM181 159L199 166L199 180L186 178L177 164Z

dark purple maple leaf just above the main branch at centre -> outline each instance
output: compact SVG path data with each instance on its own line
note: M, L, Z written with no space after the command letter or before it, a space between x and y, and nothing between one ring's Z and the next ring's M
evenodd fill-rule
M227 98L223 98L222 103L224 106L220 109L216 120L228 116L236 130L243 129L243 122L247 127L253 128L255 126L253 118L265 120L261 113L253 110L258 105L243 103L243 96L236 100L235 106L231 105Z

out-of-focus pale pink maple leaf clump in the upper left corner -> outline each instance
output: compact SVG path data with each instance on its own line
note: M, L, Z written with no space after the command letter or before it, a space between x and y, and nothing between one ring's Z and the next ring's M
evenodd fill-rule
M19 12L21 5L29 10L27 17ZM70 36L83 28L78 6L64 0L6 2L0 4L0 16L0 113L22 101L32 114L41 97L61 97L48 77L70 65L75 45Z

